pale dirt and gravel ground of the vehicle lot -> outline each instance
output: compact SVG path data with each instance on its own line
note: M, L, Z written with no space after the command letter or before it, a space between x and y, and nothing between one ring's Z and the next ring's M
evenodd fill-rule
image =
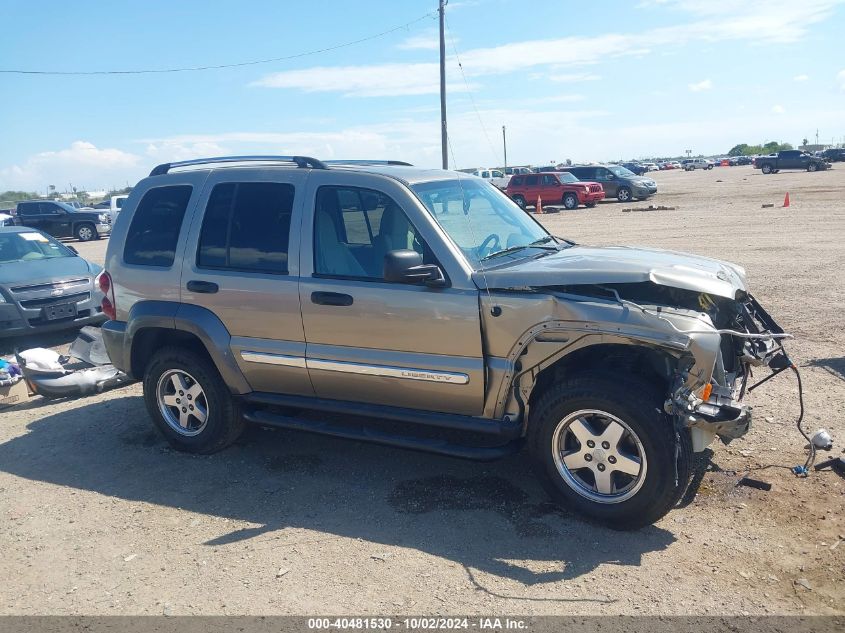
M611 202L541 217L579 242L745 266L795 334L806 426L830 429L838 454L837 167L660 172L651 202L674 211ZM78 247L102 262L105 244ZM748 436L713 447L694 502L638 533L555 510L521 456L480 465L258 428L217 455L179 454L153 431L140 393L33 398L0 413L0 613L845 613L845 480L780 467L805 456L787 374L752 394ZM772 490L735 487L746 471Z

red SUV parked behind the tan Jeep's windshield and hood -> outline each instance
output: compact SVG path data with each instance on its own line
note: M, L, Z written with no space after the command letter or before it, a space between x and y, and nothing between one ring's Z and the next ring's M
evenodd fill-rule
M568 172L555 171L514 176L508 183L507 194L523 209L537 206L537 198L546 204L577 209L581 204L596 206L604 198L604 189L597 182L584 182Z

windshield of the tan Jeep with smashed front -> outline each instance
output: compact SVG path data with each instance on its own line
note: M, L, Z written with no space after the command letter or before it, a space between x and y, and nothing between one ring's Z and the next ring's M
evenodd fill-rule
M482 259L506 249L514 249L512 258L523 258L554 244L540 224L487 182L461 178L411 189L475 269ZM521 246L526 248L516 248Z

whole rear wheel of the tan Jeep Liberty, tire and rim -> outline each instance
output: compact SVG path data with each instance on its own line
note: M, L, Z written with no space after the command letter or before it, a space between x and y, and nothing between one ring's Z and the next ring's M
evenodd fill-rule
M165 347L150 359L144 371L144 402L159 432L187 453L222 450L246 425L217 368L205 356L181 347ZM185 404L196 408L186 410Z

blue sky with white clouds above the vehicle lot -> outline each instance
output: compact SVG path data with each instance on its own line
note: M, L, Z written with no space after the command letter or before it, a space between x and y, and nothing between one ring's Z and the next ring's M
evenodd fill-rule
M120 187L219 154L437 167L436 7L0 0L0 70L228 64L413 22L223 70L0 74L0 191ZM451 166L500 165L503 125L509 164L845 140L843 0L452 0L447 16Z

